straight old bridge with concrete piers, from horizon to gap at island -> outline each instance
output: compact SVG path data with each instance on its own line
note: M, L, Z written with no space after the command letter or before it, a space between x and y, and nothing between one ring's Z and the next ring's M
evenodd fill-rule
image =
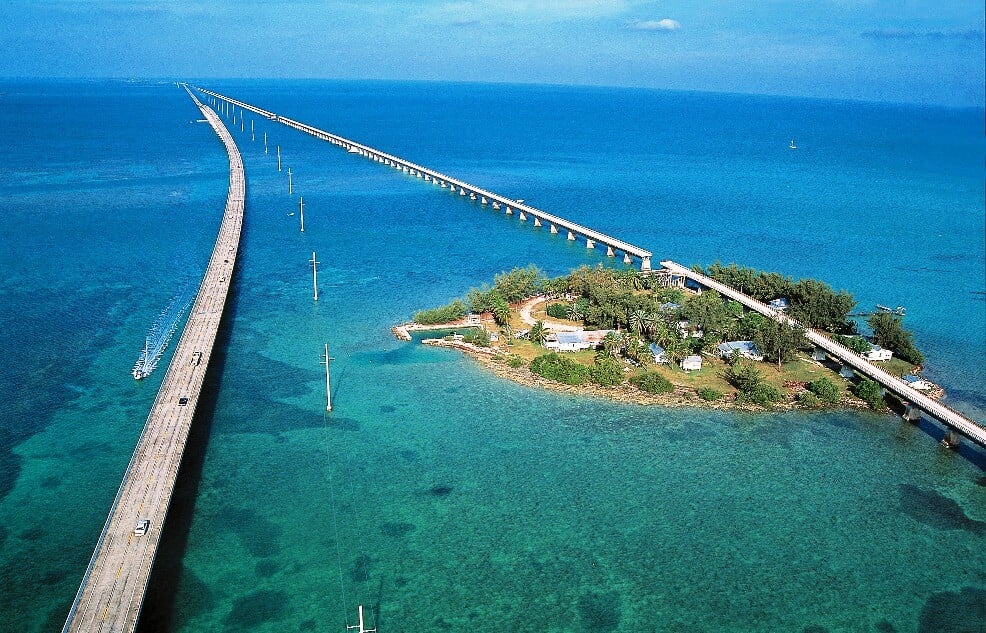
M597 245L605 246L606 255L609 257L615 257L617 253L622 253L623 262L625 264L633 263L634 258L636 258L640 260L641 270L646 271L651 268L651 252L638 246L634 246L633 244L618 240L615 237L600 233L599 231L582 226L581 224L576 224L566 220L565 218L546 213L540 209L524 204L520 200L513 200L498 193L482 189L476 185L447 176L441 172L435 171L434 169L429 169L428 167L424 167L398 156L374 149L368 145L357 143L356 141L352 141L337 134L331 134L305 123L288 119L268 110L263 110L256 106L250 105L249 103L237 101L236 99L231 99L230 97L221 95L217 92L212 92L211 90L205 90L204 88L196 88L196 90L216 99L217 101L213 102L215 105L222 104L225 108L240 108L241 110L253 112L271 121L283 123L288 127L305 132L306 134L311 134L315 138L328 141L333 145L342 147L350 153L358 154L374 162L392 167L410 176L421 178L425 182L431 182L435 186L440 186L443 189L449 189L452 192L457 191L460 196L478 201L481 205L490 205L493 209L497 210L503 209L507 215L516 214L521 221L526 221L530 218L534 222L534 226L547 225L548 230L551 233L565 231L567 239L571 241L575 241L581 237L585 240L585 245L587 248L595 248Z

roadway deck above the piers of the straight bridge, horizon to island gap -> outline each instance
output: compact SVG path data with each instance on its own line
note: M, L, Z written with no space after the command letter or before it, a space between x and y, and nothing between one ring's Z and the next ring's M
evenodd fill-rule
M264 118L270 119L272 121L283 123L288 127L292 127L301 132L305 132L306 134L311 134L312 136L316 138L320 138L324 141L329 141L334 144L341 145L346 149L355 149L363 156L390 161L397 167L401 167L401 168L406 167L408 170L414 170L416 172L421 172L422 174L430 176L431 178L437 178L439 181L443 181L448 183L449 185L454 185L456 187L459 187L460 190L464 189L470 193L476 194L477 196L483 196L493 202L498 202L499 204L502 204L504 206L509 206L511 209L515 209L518 212L523 212L526 215L530 215L532 217L538 218L542 222L549 222L550 224L554 224L556 226L562 227L564 229L572 231L573 233L577 233L578 235L582 235L593 241L599 242L600 244L605 244L607 246L611 246L615 249L623 251L624 253L628 253L635 257L639 257L645 260L645 266L649 266L650 264L650 258L652 256L652 253L650 251L644 250L638 246L634 246L633 244L624 242L623 240L619 240L615 237L606 235L604 233L600 233L599 231L590 229L586 226L582 226L581 224L570 222L565 218L561 218L556 215L546 213L540 209L537 209L530 205L523 204L521 202L517 202L516 200L507 198L506 196L502 196L498 193L494 193L486 189L481 189L465 181L459 180L457 178L453 178L451 176L447 176L433 169L429 169L428 167L418 165L417 163L412 163L411 161L400 158L399 156L394 156L392 154L382 152L378 149L370 147L369 145L363 145L362 143L357 143L356 141L352 141L345 137L339 136L337 134L332 134L324 130L320 130L316 127L312 127L305 123L301 123L299 121L294 121L292 119L278 116L275 113L270 112L268 110L263 110L256 106L250 105L249 103L244 103L242 101L231 99L217 92L212 92L211 90L205 90L204 88L196 88L196 90L199 90L203 94L207 94L211 97L215 97L216 99L221 99L243 110L248 110Z

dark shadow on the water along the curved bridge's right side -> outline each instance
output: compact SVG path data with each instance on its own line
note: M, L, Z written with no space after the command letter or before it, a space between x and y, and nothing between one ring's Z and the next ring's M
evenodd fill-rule
M245 241L246 227L241 237ZM242 261L242 248L239 257ZM241 264L242 265L242 264ZM138 633L168 633L182 628L180 614L176 612L178 586L183 580L185 552L195 503L202 481L202 466L216 413L219 387L226 370L229 341L232 334L233 315L237 309L239 267L236 268L222 321L216 335L209 367L206 371L195 417L188 432L185 454L175 481L168 516L164 522L161 543L147 584L147 594L137 620ZM188 579L184 579L188 582ZM202 587L197 600L208 601L208 591ZM178 617L176 617L178 616Z

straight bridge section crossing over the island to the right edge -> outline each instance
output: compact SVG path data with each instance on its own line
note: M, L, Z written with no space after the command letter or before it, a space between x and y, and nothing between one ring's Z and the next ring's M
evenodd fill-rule
M670 275L682 279L691 279L706 288L716 290L724 297L738 301L747 308L759 312L768 318L800 325L791 317L771 308L766 303L757 301L735 288L720 283L707 275L697 273L674 261L662 261L661 267ZM979 446L986 447L986 428L976 424L955 409L945 406L933 398L929 398L897 376L887 373L848 347L833 341L820 332L811 328L805 328L805 337L816 348L823 350L826 355L842 363L843 366L848 366L854 372L878 382L884 389L898 396L906 405L904 414L906 418L915 419L918 411L923 412L929 417L941 422L950 432L959 433ZM957 439L956 436L951 435L949 442L954 444Z

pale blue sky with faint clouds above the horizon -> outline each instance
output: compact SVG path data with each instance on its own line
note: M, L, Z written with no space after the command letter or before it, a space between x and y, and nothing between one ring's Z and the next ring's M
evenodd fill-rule
M639 86L984 103L982 0L6 0L0 76Z

